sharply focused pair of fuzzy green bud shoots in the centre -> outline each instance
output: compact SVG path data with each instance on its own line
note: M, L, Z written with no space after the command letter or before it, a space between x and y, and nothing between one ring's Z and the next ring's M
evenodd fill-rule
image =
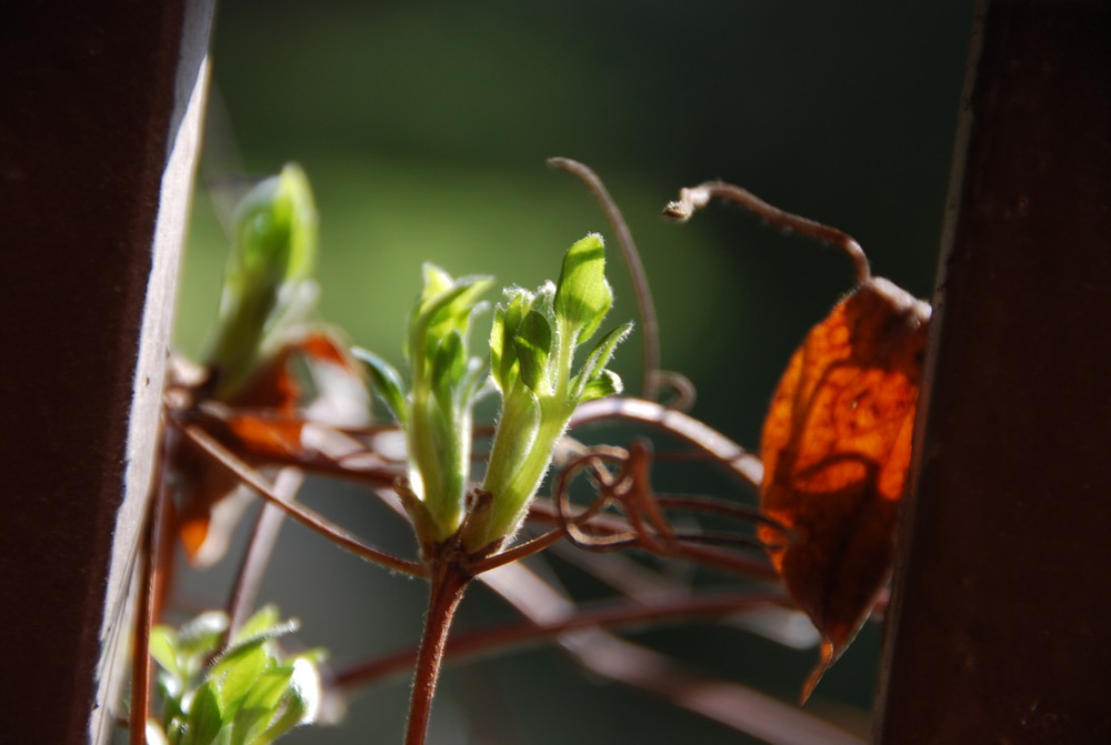
M406 430L406 496L423 546L458 534L466 551L489 553L512 536L575 406L621 391L620 377L605 365L631 324L604 334L574 365L577 349L595 334L613 302L604 269L602 239L591 234L568 251L559 282L536 292L507 290L506 302L494 311L489 376L486 362L467 351L467 336L491 280L452 279L431 265L424 268L424 290L410 319L408 391L381 358L356 351ZM501 413L477 492L481 499L468 500L471 410L488 379L501 394Z

